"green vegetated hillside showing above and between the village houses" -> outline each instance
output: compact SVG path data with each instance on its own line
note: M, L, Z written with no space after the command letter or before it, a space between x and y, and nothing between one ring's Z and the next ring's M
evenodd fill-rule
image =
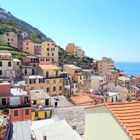
M27 32L29 34L29 39L34 42L41 43L45 40L52 41L52 39L48 38L45 34L43 34L40 30L33 27L32 25L22 21L15 16L13 16L10 12L0 8L0 34L14 31L17 34L21 32ZM92 58L84 57L78 58L72 54L68 54L63 48L59 47L59 64L63 66L63 64L75 64L82 68L90 68L90 65L93 61ZM25 53L11 48L10 46L0 46L0 50L9 50L13 57L20 58L24 57Z

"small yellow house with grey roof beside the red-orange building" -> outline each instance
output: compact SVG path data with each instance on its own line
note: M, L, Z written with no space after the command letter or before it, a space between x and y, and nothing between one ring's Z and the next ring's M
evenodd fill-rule
M51 98L44 90L31 90L32 121L49 119L54 114Z

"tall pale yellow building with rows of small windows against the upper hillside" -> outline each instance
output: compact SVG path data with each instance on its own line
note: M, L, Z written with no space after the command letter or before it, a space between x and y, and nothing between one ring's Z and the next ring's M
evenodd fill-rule
M49 58L51 63L58 64L58 47L54 42L43 42L41 47L41 56Z

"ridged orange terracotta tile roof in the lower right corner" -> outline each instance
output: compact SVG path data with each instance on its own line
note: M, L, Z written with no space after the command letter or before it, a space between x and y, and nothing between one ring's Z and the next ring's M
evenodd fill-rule
M108 104L107 107L133 140L140 140L140 102Z

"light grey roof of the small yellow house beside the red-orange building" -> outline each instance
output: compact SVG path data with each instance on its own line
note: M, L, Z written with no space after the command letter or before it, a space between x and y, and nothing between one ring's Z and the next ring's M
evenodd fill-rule
M42 89L40 90L31 90L31 100L39 100L39 99L49 99L50 96Z

